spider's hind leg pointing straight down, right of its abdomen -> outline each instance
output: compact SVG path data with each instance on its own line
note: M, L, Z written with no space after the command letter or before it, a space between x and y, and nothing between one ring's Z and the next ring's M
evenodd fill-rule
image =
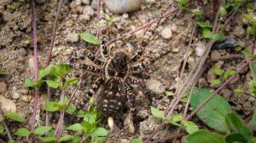
M133 92L133 89L131 88L131 85L129 85L128 83L125 85L125 93L126 93L128 105L130 108L129 114L127 117L127 123L128 123L129 132L133 134L135 132L135 128L133 124L133 115L135 112L135 94Z

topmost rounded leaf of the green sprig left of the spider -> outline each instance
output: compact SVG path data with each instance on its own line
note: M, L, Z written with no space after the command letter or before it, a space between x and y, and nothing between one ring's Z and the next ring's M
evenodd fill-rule
M54 75L55 77L65 77L70 71L71 69L69 65L58 64L52 67L50 74Z

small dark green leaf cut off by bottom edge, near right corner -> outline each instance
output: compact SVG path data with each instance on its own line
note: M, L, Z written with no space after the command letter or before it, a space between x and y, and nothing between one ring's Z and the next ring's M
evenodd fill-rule
M231 133L225 137L225 143L247 143L247 139L240 133Z

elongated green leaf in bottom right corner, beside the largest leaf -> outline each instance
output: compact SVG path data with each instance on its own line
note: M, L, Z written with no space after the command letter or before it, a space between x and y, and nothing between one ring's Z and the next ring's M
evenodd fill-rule
M253 138L253 132L247 128L247 125L243 123L241 117L239 117L235 112L231 112L226 115L227 128L230 131L235 131L242 134L248 142Z

